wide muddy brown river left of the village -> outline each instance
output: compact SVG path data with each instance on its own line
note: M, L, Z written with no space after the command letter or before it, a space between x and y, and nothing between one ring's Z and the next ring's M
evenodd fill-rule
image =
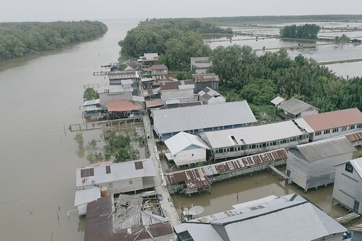
M67 211L88 162L67 126L82 121L83 85L104 81L92 72L117 60L138 21L105 20L101 38L0 62L0 240L83 240L84 221ZM84 132L85 142L99 136Z

